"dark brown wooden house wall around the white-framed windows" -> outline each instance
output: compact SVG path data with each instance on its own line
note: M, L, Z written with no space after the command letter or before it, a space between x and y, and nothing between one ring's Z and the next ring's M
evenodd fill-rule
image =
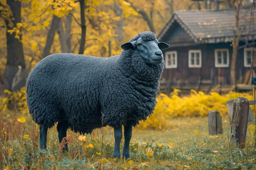
M240 44L243 45L243 44ZM229 49L229 67L215 67L215 49ZM201 50L202 67L189 68L189 50ZM197 44L193 46L171 47L166 51L177 51L177 68L165 68L163 76L171 81L173 86L197 85L199 78L209 80L212 78L212 85L230 85L230 65L232 58L232 46L230 43L218 44ZM245 73L249 68L244 66L244 51L238 51L236 62L236 77L238 83L245 81Z

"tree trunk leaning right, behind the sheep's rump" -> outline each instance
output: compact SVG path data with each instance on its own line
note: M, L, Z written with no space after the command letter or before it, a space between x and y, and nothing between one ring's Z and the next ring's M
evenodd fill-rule
M51 24L50 30L47 34L46 44L45 44L45 48L43 50L42 58L46 57L47 55L50 55L50 50L52 48L55 31L58 29L60 20L61 20L61 18L57 17L56 15L53 15L52 24Z

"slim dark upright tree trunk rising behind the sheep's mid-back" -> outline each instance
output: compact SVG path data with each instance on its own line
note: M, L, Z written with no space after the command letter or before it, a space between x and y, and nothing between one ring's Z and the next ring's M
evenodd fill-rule
M85 47L85 37L86 37L86 25L85 25L85 5L84 0L80 0L80 13L81 13L81 41L79 47L79 54L83 54Z

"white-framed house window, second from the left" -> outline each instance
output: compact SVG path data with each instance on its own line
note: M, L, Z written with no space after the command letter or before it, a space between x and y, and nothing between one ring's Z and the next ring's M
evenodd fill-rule
M201 50L189 50L189 68L201 68L202 54Z

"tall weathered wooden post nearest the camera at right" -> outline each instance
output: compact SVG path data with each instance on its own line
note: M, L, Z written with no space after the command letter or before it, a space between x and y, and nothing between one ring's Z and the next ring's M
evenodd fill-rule
M233 142L240 148L245 147L245 137L247 130L249 113L249 101L244 97L234 100L232 123L231 123L231 144Z

